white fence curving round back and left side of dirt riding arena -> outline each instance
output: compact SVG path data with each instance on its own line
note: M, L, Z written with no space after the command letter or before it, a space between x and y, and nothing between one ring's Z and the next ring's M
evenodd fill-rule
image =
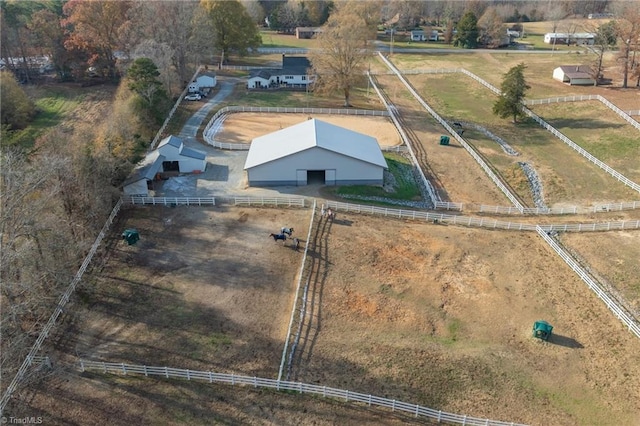
M218 132L224 116L227 114L241 112L257 112L268 114L333 114L333 115L361 115L371 117L388 117L388 111L366 110L366 109L346 109L346 108L294 108L294 107L245 107L245 106L227 106L220 108L204 128L204 140L211 146L220 149L246 151L249 149L249 143L226 143L219 142L214 139ZM249 141L247 141L249 142Z

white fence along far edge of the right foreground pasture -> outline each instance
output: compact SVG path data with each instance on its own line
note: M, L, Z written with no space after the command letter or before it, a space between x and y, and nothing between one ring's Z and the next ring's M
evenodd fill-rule
M470 216L459 216L444 213L430 213L422 210L403 210L387 207L368 206L363 204L338 203L335 201L325 201L327 207L331 207L336 212L364 213L377 216L384 216L396 219L421 220L434 223L444 223L458 226L471 226L488 229L506 229L514 231L536 231L540 226L545 231L558 232L595 232L595 231L621 231L628 229L640 229L640 220L627 220L601 223L571 223L571 224L549 224L536 225L531 223L504 222L495 219L478 218Z

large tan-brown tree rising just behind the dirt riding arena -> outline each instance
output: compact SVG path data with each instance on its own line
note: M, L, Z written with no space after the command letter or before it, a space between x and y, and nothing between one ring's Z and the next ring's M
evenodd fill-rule
M364 77L369 56L370 29L365 20L353 12L351 2L338 3L337 10L318 35L319 49L309 55L316 75L314 90L341 91L344 106L350 107L351 89Z

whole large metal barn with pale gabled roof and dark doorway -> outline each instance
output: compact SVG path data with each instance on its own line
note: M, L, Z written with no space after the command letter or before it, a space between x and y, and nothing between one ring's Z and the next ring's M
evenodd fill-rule
M317 119L253 139L244 169L250 186L382 185L378 141Z

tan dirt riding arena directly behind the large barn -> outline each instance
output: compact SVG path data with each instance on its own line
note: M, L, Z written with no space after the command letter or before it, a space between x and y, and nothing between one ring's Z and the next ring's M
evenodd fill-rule
M331 114L229 114L220 131L216 133L216 140L227 143L250 143L253 138L277 132L310 118L374 137L380 146L395 146L402 143L398 131L391 119L387 117Z

